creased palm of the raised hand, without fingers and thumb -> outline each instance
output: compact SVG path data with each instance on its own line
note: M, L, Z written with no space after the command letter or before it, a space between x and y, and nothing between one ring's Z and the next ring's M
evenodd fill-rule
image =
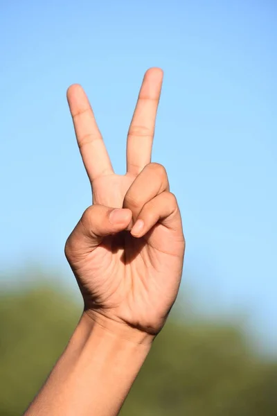
M75 130L78 133L76 126ZM80 149L91 176L84 154L86 147ZM140 171L95 175L91 180L93 204L122 208ZM177 295L184 238L180 227L172 229L159 222L136 238L129 232L132 224L131 221L126 230L105 236L94 250L71 256L71 267L87 309L98 309L114 320L156 331Z

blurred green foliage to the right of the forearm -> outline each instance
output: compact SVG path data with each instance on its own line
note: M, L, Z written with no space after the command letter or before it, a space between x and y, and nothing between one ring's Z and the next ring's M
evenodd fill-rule
M274 380L277 368L251 354L238 329L168 322L122 415L276 415L276 393L265 396Z

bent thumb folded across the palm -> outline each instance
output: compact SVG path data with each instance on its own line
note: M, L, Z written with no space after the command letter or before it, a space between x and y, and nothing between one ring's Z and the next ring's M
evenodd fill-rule
M123 231L131 221L130 209L91 205L84 211L66 241L66 257L71 257L68 254L77 254L77 252L80 255L87 254L87 251L91 251L102 242L103 237Z

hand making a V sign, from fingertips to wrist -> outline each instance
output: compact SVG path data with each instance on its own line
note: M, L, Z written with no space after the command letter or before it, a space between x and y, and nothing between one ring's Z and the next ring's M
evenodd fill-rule
M159 333L175 302L185 248L166 170L151 163L162 78L161 69L145 73L127 136L125 175L113 171L82 87L71 85L67 93L93 194L65 247L84 311L104 327L150 336Z

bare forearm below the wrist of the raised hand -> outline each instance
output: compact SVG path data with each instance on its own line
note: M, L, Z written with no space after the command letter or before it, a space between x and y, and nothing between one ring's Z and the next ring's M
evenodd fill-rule
M145 361L151 338L107 329L84 313L25 416L114 416Z

